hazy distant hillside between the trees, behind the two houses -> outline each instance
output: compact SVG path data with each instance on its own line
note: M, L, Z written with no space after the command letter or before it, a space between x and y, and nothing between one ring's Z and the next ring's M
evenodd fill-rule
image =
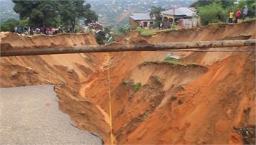
M104 25L122 26L128 24L130 13L149 12L151 6L170 9L171 6L190 6L196 0L87 0L92 10L100 16Z

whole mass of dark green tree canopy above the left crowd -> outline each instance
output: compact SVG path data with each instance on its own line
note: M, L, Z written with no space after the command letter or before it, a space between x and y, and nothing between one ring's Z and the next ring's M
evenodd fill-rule
M72 26L79 20L84 19L85 23L97 21L97 15L86 4L84 0L69 1L18 1L12 0L15 4L14 11L21 19L28 19L30 26Z

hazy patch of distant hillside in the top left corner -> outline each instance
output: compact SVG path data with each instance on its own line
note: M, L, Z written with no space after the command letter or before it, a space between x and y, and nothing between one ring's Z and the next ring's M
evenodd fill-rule
M0 0L0 22L4 22L9 18L18 20L18 14L14 12L14 3L11 0Z

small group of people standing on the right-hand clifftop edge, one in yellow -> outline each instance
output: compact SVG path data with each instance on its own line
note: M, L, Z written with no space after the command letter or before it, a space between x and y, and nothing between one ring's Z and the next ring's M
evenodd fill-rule
M244 6L242 11L238 8L235 13L232 9L229 11L229 17L228 17L228 23L238 23L239 18L242 18L242 21L245 20L245 17L247 16L248 8L247 6ZM234 19L235 18L235 19Z

